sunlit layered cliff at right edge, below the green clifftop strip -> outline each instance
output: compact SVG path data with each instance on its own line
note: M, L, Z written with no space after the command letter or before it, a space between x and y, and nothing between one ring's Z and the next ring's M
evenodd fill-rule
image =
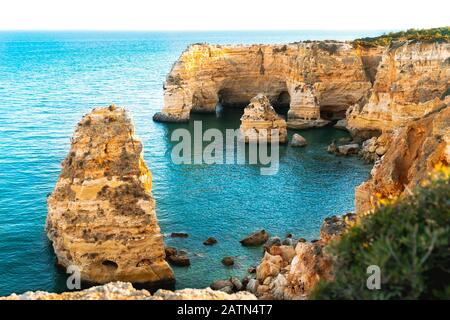
M450 103L450 44L391 44L382 55L367 103L352 106L357 135L391 131Z

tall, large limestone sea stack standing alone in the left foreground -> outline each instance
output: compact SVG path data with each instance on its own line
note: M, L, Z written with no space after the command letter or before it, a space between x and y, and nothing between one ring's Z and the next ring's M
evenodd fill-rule
M47 236L58 264L94 283L174 282L142 144L123 108L85 115L48 198Z

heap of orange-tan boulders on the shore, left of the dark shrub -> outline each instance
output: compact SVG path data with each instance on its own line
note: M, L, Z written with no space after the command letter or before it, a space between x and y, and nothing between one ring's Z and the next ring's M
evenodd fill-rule
M299 239L292 245L271 246L257 266L256 275L248 280L246 290L260 299L306 299L320 279L331 279L333 259L327 244L338 239L355 218L349 213L325 219L318 240Z

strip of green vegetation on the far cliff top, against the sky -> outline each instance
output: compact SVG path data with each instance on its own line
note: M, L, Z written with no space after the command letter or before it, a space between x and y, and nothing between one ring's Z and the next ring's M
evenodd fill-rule
M378 37L355 39L353 45L361 47L387 46L394 41L450 42L450 27L390 32Z

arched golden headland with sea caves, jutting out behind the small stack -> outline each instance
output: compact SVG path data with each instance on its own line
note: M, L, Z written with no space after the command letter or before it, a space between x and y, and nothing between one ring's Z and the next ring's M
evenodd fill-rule
M367 95L380 54L346 42L191 45L167 76L155 120L187 120L191 111L214 112L218 102L245 106L262 93L275 106L290 105L288 126L320 126L324 115L345 117Z

